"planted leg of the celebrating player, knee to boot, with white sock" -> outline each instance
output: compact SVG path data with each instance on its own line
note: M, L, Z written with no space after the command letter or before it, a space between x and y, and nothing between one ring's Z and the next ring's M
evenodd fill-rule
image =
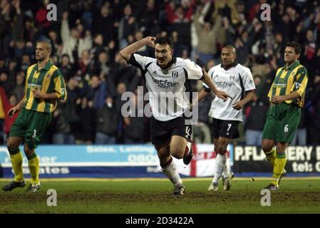
M185 187L183 186L180 175L177 173L175 162L173 162L172 156L170 155L170 140L167 140L167 142L161 145L155 145L155 150L158 152L162 172L165 173L175 186L173 195L175 197L181 197L185 193Z

